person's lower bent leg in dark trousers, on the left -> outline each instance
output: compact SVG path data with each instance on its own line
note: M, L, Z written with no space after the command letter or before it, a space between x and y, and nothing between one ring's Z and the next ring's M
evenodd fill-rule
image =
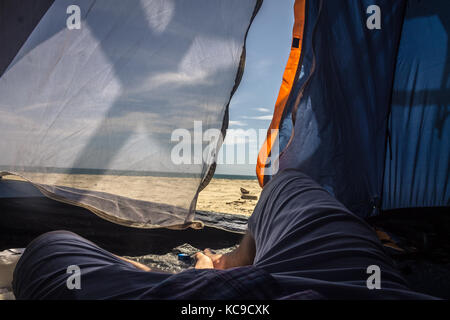
M80 287L68 285L80 271ZM134 299L170 274L144 272L68 231L33 240L14 270L17 299ZM72 279L74 280L74 279Z

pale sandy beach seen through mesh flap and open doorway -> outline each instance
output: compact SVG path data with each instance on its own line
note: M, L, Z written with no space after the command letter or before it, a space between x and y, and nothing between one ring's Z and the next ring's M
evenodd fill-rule
M198 181L193 178L149 176L28 173L28 178L36 183L101 191L136 200L180 206L185 206L185 202L192 199L198 185ZM23 180L12 175L5 176L3 179ZM197 210L250 215L257 200L242 199L241 187L259 199L261 188L256 179L212 179L199 195Z

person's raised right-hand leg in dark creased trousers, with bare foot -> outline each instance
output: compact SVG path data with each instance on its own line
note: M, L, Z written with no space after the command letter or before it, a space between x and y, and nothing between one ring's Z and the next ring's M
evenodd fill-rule
M337 299L426 297L408 290L365 221L298 171L280 172L264 187L248 226L242 246L218 262L251 261L287 294L312 289ZM380 268L381 290L368 288L369 266Z

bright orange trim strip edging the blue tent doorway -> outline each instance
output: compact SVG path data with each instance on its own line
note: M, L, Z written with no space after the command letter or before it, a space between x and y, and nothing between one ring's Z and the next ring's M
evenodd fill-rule
M305 2L306 0L295 0L294 4L294 28L292 31L292 46L289 60L283 73L283 82L281 83L278 98L275 103L275 110L267 130L267 137L264 144L259 151L258 160L256 164L256 176L261 187L264 186L264 171L267 164L267 158L271 154L272 148L278 135L280 128L281 117L283 116L284 108L291 93L295 75L297 74L298 64L300 62L300 54L302 50L303 30L305 26Z

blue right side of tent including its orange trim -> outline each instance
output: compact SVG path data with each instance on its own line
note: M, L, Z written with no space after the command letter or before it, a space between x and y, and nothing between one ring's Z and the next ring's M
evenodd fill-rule
M361 217L448 208L450 4L296 1L295 18L270 126L279 170L308 173Z

